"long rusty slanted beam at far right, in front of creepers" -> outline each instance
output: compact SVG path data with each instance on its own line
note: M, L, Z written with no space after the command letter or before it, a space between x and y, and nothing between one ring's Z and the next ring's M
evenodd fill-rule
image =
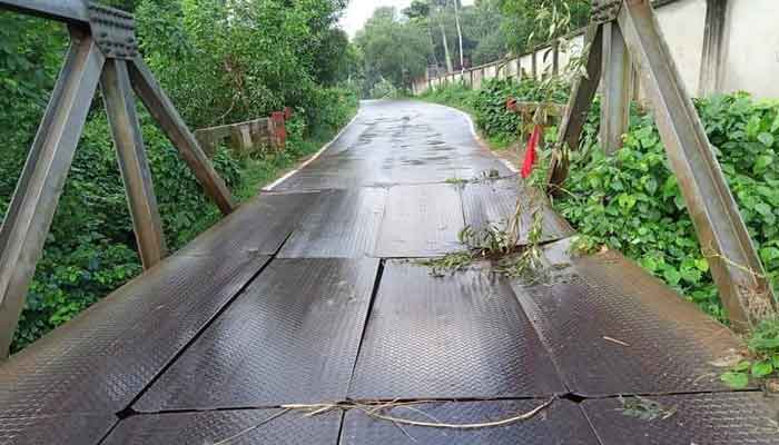
M618 22L652 102L671 168L737 330L776 314L770 283L649 0L625 0Z

